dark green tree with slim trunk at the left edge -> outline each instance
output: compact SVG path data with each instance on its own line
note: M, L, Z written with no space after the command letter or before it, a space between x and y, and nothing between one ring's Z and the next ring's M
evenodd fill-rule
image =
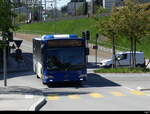
M13 4L10 0L0 0L0 31L3 40L0 41L0 47L3 47L3 70L4 70L4 86L7 86L7 62L6 62L6 39L8 38L8 32L16 30L16 26L13 23L15 14L12 11Z

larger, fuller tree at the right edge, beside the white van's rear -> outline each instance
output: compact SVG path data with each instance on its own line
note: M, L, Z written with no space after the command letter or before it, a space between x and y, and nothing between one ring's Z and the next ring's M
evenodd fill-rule
M142 5L137 0L126 0L124 6L116 8L116 16L120 16L116 24L120 24L118 33L131 42L131 67L136 67L137 43L150 32L150 4Z

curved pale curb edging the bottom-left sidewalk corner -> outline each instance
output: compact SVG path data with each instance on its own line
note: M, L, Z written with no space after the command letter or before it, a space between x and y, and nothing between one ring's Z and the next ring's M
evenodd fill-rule
M34 103L30 108L29 111L39 111L42 106L46 104L45 97L40 98L36 103Z

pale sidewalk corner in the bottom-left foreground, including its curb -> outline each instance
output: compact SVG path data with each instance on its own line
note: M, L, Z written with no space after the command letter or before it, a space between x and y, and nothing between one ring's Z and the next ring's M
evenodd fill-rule
M42 92L30 87L0 87L0 111L37 111L45 103Z

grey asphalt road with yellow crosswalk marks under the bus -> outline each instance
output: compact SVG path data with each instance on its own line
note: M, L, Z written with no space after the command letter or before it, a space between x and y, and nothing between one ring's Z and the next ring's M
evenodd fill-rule
M32 43L21 48L32 53ZM31 59L31 58L29 58ZM93 61L89 57L89 61ZM42 85L32 72L10 74L10 86L29 86L42 90L47 103L41 111L51 110L134 110L150 111L150 74L94 74L88 69L87 81L77 84ZM23 80L23 81L20 81Z

